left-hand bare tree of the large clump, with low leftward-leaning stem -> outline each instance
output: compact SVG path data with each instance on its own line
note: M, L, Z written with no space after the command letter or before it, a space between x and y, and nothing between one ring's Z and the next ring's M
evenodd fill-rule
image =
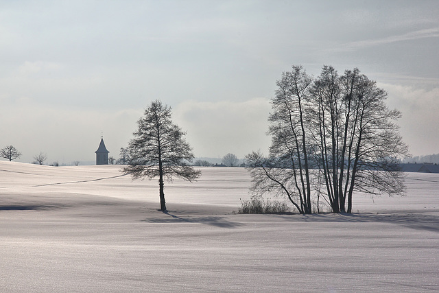
M311 174L305 109L312 79L300 66L276 83L270 114L270 159L259 153L246 157L254 191L286 194L300 213L311 213ZM256 179L256 180L255 180Z

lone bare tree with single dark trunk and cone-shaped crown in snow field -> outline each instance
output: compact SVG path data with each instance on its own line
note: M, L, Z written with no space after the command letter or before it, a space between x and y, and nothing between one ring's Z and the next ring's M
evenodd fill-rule
M137 124L123 172L134 179L158 177L160 209L166 211L164 180L169 182L175 176L192 182L201 172L189 165L193 160L191 146L184 138L186 133L172 123L169 106L159 100L152 102Z

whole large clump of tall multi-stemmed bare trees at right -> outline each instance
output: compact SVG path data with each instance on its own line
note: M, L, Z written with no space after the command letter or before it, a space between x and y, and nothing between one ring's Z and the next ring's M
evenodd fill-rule
M353 193L402 194L399 160L407 145L387 94L358 69L324 66L312 78L300 66L277 82L269 118L270 155L246 159L257 194L285 194L300 213L352 212Z

